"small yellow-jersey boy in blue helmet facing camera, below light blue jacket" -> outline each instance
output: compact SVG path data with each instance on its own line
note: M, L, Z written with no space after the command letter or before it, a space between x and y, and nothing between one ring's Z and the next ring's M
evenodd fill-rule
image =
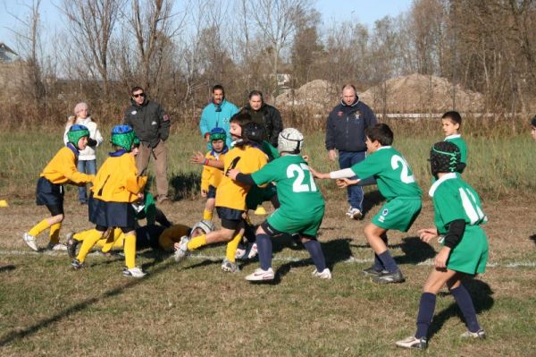
M210 131L212 150L208 151L205 155L203 173L201 174L201 197L206 198L203 219L208 221L211 221L213 217L216 189L222 182L223 172L221 168L206 166L205 162L208 163L208 160L223 161L225 153L229 151L229 148L225 145L226 139L227 134L224 129L214 128Z

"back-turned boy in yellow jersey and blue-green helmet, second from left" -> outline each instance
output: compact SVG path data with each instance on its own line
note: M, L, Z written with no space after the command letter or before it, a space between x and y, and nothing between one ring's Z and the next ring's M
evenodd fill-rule
M115 148L96 173L89 200L89 221L96 228L86 236L72 268L84 267L88 252L103 237L106 230L119 227L125 234L125 265L123 276L143 277L146 273L136 267L136 211L132 203L143 197L147 176L138 176L135 157L139 140L129 125L116 125L112 130Z

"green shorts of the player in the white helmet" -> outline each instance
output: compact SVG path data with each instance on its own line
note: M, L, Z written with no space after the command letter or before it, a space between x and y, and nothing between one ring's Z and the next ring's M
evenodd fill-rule
M324 214L324 207L320 207L311 213L296 217L284 209L278 208L268 217L268 224L286 234L305 234L310 237L316 236Z

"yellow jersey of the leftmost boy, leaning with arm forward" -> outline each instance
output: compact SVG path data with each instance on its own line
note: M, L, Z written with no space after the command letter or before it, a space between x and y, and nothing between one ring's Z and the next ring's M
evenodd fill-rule
M82 174L76 168L76 156L74 152L63 147L60 149L52 160L46 164L41 177L45 177L46 180L55 184L63 183L92 183L95 179L93 174Z

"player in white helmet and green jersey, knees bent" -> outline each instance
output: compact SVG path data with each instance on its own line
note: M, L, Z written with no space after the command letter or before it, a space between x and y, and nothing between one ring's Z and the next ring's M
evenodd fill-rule
M326 268L326 261L316 234L324 214L322 193L314 184L309 166L299 154L304 136L294 128L280 132L277 149L281 157L253 174L242 174L239 169L229 170L227 175L238 183L263 185L276 183L277 194L281 203L256 231L256 243L261 268L246 276L249 281L269 281L274 277L272 270L272 238L282 234L299 234L301 242L313 259L313 275L322 279L331 279L331 272Z

